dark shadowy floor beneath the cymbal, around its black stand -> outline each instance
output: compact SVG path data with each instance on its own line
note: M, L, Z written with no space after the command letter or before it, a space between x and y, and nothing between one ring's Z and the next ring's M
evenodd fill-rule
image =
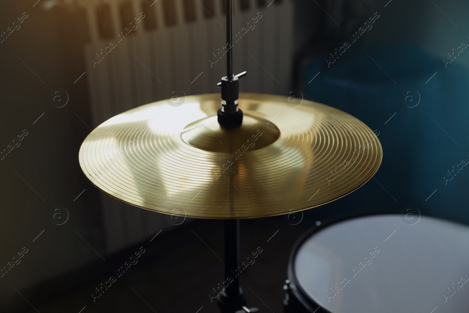
M288 255L295 240L311 226L305 222L290 225L293 223L281 216L241 221L241 261L258 247L262 249L255 263L240 275L242 288L248 305L264 312L283 312ZM201 307L199 313L219 312L209 294L223 282L223 262L219 259L224 257L223 221L197 220L150 239L23 296L41 313L78 313L83 307L83 313L196 313ZM114 270L141 246L145 252L138 262L123 275L116 275ZM91 294L98 295L95 288L110 276L116 281L93 302ZM15 308L8 312L37 312L21 297L13 305Z

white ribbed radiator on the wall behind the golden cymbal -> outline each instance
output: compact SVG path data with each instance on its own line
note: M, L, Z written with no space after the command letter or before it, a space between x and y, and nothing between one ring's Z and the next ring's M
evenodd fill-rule
M234 72L248 72L240 81L242 92L287 95L291 85L293 2L271 1L234 0ZM219 92L216 84L226 76L225 0L81 2L89 10L91 43L84 49L93 127L176 94ZM125 28L131 29L130 22L141 12L145 17L140 23L134 20L136 29L126 34ZM110 47L110 42L115 46ZM102 203L108 252L173 227L168 215L131 207L104 194Z

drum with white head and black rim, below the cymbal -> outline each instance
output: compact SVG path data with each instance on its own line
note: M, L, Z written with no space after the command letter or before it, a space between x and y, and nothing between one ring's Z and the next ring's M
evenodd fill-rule
M284 306L286 313L467 313L468 279L469 227L419 214L357 217L297 241Z

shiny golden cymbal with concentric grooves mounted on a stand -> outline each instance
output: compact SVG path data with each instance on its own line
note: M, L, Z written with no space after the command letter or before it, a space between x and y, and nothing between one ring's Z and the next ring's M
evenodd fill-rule
M85 138L79 161L106 194L147 210L244 219L297 212L356 190L383 151L363 122L333 107L240 93L242 126L217 122L220 95L158 101L107 120Z

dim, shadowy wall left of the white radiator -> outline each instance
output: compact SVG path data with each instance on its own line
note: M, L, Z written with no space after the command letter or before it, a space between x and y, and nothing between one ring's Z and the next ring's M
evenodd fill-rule
M0 43L0 267L12 266L0 278L0 303L17 296L15 288L99 259L84 240L97 252L102 243L97 191L87 188L74 201L86 186L77 158L90 131L86 76L74 84L84 71L77 47L86 38L64 21L80 13L45 11L44 1L35 2L0 4L1 32L16 28ZM23 23L13 24L22 16ZM67 95L57 89L68 92L64 107ZM51 95L59 96L56 102ZM22 249L20 263L8 263Z

